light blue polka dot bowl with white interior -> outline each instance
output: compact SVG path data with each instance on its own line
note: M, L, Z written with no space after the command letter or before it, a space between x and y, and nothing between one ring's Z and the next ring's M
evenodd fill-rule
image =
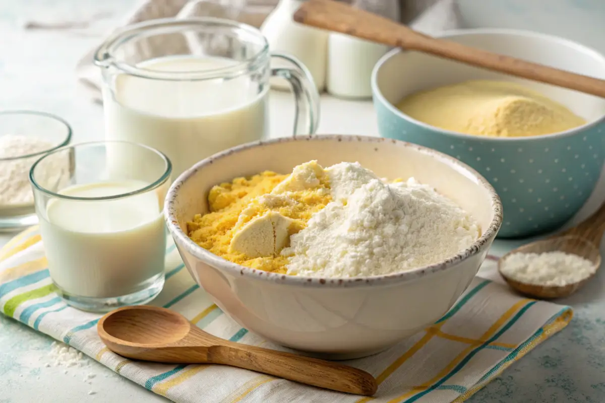
M517 30L458 30L442 37L605 79L605 57L566 39ZM522 83L563 103L588 123L539 137L488 138L429 126L393 106L413 92L472 79ZM555 230L580 210L597 184L605 156L605 99L401 50L379 60L371 80L382 137L454 156L494 186L504 208L499 237Z

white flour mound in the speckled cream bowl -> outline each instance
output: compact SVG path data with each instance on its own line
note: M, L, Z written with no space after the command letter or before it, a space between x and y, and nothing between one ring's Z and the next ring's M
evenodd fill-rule
M479 224L410 178L387 184L355 163L326 169L334 201L290 237L289 274L378 276L437 263L468 248Z

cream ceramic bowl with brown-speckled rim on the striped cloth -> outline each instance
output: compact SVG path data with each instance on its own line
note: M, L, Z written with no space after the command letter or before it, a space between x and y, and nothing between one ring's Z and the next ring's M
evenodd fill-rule
M263 170L289 173L309 160L323 166L359 161L378 176L414 176L471 211L482 236L435 265L353 279L247 268L215 256L187 236L186 222L208 211L213 185ZM477 172L442 153L384 138L318 136L244 144L200 161L172 184L165 217L191 275L241 326L293 349L353 358L392 346L453 306L488 253L502 222L502 205Z

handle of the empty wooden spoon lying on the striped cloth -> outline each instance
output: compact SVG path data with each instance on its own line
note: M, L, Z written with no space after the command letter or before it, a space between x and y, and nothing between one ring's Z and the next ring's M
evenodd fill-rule
M258 347L212 346L208 359L338 392L371 396L378 388L376 379L361 369Z

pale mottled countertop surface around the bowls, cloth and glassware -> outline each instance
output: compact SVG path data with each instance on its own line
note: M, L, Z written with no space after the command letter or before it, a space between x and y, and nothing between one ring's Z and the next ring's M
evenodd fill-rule
M78 91L74 66L94 47L111 20L91 31L22 30L25 18L118 16L133 0L6 0L0 2L0 109L39 109L64 117L74 129L74 141L103 137L102 108ZM272 136L292 130L293 105L289 94L271 98ZM322 97L319 133L377 135L371 102ZM601 181L580 217L603 200ZM9 236L0 236L3 245ZM525 241L526 242L526 241ZM497 241L493 254L502 254L524 241ZM605 249L601 247L601 253ZM575 318L561 334L507 369L502 376L469 399L470 402L605 402L605 274L562 303L574 306ZM75 370L46 367L52 340L0 315L0 403L55 402L167 402L93 362ZM96 376L91 384L83 381ZM93 390L94 395L88 395Z

